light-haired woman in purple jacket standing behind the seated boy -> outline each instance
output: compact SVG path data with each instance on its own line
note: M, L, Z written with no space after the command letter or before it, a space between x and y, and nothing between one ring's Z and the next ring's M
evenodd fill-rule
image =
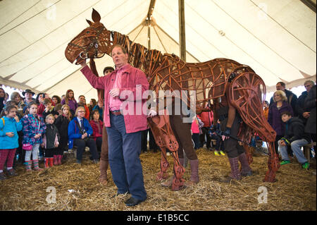
M282 122L281 113L289 111L292 116L294 115L292 106L287 102L285 92L277 90L273 95L273 103L268 109L268 123L276 132L275 138L275 152L278 153L278 140L285 134L285 124Z

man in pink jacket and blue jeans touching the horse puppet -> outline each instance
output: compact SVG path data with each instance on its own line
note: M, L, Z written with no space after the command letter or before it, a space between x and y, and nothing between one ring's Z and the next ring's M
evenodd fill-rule
M108 133L108 161L117 194L130 193L125 205L138 205L147 199L144 188L141 152L141 131L147 129L147 112L142 111L149 90L146 75L130 66L124 47L114 45L111 51L116 70L97 77L85 61L82 73L92 87L104 89L104 126ZM144 96L144 99L142 98Z

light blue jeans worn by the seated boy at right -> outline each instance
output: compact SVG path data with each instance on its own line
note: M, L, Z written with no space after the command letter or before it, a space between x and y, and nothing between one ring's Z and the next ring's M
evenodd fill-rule
M295 157L297 158L300 164L304 164L305 162L307 162L307 159L304 156L304 152L301 150L301 147L307 144L308 144L308 141L304 138L299 140L294 140L293 142L291 142L292 151L295 154ZM290 158L288 157L288 154L287 154L287 146L280 145L280 140L279 140L278 147L280 147L280 154L282 156L282 160L290 161Z

